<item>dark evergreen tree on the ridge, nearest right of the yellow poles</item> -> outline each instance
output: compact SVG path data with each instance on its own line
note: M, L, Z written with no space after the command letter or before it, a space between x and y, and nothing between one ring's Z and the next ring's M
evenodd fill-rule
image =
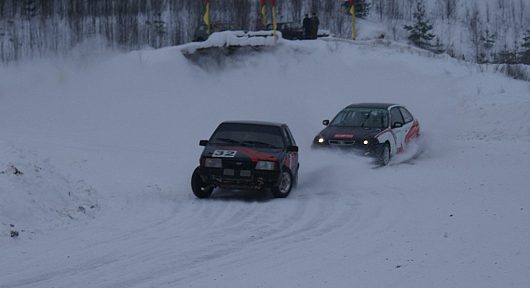
M414 24L405 25L405 30L409 31L408 39L412 44L420 48L430 48L430 41L434 38L431 33L432 24L425 16L425 3L423 0L416 2L416 11L414 11Z

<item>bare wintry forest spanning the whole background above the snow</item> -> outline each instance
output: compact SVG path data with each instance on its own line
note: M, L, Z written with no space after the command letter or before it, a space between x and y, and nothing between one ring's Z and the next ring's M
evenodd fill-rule
M398 41L407 40L403 27L414 20L417 2L424 1L433 42L451 56L476 62L522 53L530 33L527 0L365 1L366 18L384 25L385 37ZM338 37L351 35L343 0L276 3L278 21L300 22L316 11L321 28ZM258 0L210 0L210 10L212 22L246 30L259 26ZM123 50L182 44L193 39L203 13L204 0L0 0L0 60L63 55L86 42Z

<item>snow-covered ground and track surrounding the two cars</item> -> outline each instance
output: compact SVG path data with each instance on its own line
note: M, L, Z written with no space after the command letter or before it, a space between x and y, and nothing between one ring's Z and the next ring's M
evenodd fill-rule
M528 82L398 45L179 49L0 67L0 287L530 286ZM379 101L422 125L392 165L310 149ZM191 193L198 141L238 119L289 124L289 198Z

